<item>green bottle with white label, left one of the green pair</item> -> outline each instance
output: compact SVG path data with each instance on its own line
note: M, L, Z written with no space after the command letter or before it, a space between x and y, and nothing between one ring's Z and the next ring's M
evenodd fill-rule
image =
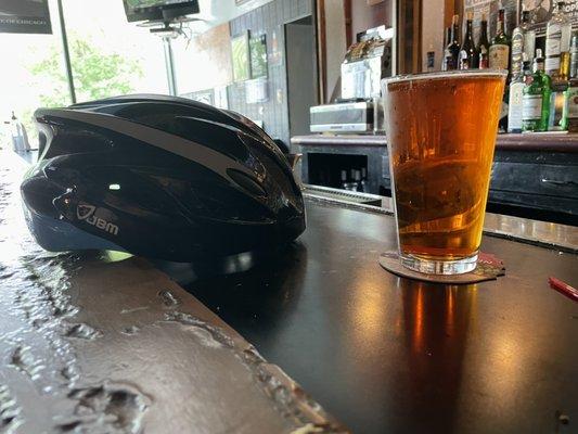
M522 102L522 130L545 131L550 118L551 80L544 73L544 58L542 50L536 50L534 59L534 74L529 84L524 88Z

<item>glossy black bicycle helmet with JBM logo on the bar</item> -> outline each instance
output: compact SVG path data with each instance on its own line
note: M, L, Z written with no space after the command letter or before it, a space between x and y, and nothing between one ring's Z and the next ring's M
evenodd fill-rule
M48 251L193 261L279 246L305 230L286 157L236 113L126 95L39 108L35 118L39 157L21 190Z

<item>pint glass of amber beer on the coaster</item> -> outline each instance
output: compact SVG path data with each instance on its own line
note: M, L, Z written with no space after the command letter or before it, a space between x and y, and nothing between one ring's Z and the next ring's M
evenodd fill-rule
M476 268L506 72L382 81L401 264L434 275Z

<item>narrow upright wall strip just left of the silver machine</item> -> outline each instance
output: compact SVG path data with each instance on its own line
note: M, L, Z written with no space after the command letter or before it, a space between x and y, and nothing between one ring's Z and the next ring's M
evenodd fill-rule
M325 0L326 101L341 93L342 62L347 51L343 0Z

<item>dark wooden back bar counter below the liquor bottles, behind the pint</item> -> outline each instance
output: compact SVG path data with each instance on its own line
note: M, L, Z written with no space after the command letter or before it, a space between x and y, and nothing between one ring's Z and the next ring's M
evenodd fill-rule
M499 135L496 146L490 210L578 221L578 133ZM347 155L354 165L365 165L369 193L390 195L385 136L297 136L292 152L304 154L307 183L338 188L339 171L348 164L339 156Z

